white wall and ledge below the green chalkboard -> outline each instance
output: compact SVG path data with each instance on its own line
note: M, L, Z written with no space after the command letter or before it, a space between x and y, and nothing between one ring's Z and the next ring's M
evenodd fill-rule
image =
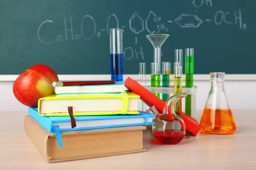
M124 75L124 78L127 76L128 75ZM0 111L27 111L27 107L19 103L17 99L15 99L12 92L12 84L16 77L17 76L0 76ZM135 80L138 78L137 75L130 75L130 77ZM236 75L235 77L234 75L226 75L226 77L225 89L230 108L256 109L256 100L254 96L256 94L255 75ZM59 78L60 81L109 79L109 77L105 75L99 75L96 77L90 75L60 75ZM148 75L147 80L149 80ZM196 95L196 109L203 110L210 88L209 75L195 75L194 84L198 86L198 92ZM147 85L150 85L150 81L147 81Z

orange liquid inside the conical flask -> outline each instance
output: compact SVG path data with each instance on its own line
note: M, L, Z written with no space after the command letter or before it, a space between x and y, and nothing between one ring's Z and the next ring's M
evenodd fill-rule
M211 134L231 134L236 131L235 120L230 109L211 110L205 108L200 126L202 132Z

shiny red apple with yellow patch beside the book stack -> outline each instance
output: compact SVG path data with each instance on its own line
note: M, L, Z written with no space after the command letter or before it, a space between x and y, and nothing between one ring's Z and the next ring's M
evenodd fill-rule
M58 76L47 65L33 65L15 80L12 90L16 99L23 105L37 107L38 99L54 94L52 82Z

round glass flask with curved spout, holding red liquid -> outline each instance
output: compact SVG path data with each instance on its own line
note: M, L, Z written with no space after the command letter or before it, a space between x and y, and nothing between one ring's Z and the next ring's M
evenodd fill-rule
M175 113L175 103L186 97L186 93L176 94L167 99L160 114L155 106L152 106L147 112L154 113L155 124L152 125L152 133L154 138L161 144L178 144L182 141L186 133L186 126L183 119ZM169 113L170 111L170 113Z

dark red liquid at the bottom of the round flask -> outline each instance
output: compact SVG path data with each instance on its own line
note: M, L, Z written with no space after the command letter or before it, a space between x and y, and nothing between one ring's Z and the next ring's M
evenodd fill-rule
M158 131L153 133L154 138L161 144L178 144L184 138L184 133L179 131Z

